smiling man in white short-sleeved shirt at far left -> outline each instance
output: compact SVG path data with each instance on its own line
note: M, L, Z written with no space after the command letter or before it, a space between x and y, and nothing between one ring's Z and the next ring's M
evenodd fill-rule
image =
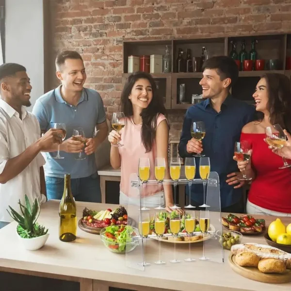
M50 129L40 137L37 118L30 106L32 86L26 68L0 65L0 228L12 221L8 206L19 211L24 194L30 201L46 201L46 186L40 151L62 143L62 129Z

